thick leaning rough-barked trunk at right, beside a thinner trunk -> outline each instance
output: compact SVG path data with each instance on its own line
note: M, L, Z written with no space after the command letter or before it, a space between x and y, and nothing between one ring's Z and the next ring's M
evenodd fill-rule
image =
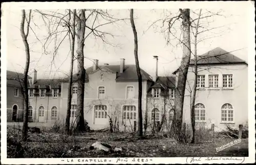
M180 9L182 16L182 34L183 34L183 56L181 66L178 70L178 85L175 91L175 118L174 118L174 134L175 139L180 143L186 143L185 130L182 130L183 103L185 86L187 79L187 71L190 62L190 16L189 9Z

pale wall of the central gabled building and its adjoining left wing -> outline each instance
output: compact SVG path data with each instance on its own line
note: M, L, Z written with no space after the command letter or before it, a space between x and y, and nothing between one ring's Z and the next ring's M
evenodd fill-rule
M100 75L104 75L104 80L100 81ZM108 72L107 70L99 70L93 74L89 75L89 82L85 84L84 89L84 119L87 120L91 129L103 129L105 127L109 127L110 118L113 122L119 122L119 129L124 129L124 124L126 123L130 127L134 125L132 121L132 125L130 121L123 122L122 120L122 108L124 105L134 105L136 106L136 121L138 120L138 82L130 81L130 82L116 82L116 74ZM75 83L74 86L77 86ZM105 87L105 98L98 99L98 87ZM126 99L126 87L133 86L134 87L134 98ZM145 114L146 110L146 90L147 81L142 82L142 111ZM48 97L39 98L37 96L37 105L36 112L33 115L36 115L35 122L38 122L38 107L43 105L45 109L48 110L48 122L51 122L50 119L50 109L52 106L58 107L58 119L61 122L65 122L67 115L67 100L68 100L68 83L62 83L61 85L61 95L58 99L54 99L50 96L49 98L49 108L48 105ZM31 105L35 107L36 97L31 100ZM72 104L76 104L76 96L72 95ZM106 105L108 111L108 118L106 119L95 119L94 117L94 107L95 105ZM35 108L34 108L35 109ZM47 111L45 111L47 114ZM75 118L71 117L71 122L75 122ZM44 122L46 122L46 115L44 118ZM138 122L138 121L137 121ZM138 125L137 125L138 126ZM128 129L128 128L127 128Z

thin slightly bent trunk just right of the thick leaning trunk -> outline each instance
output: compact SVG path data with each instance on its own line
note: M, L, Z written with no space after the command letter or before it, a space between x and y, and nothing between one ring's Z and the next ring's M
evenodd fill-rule
M199 12L199 17L197 20L197 25L196 25L196 32L195 32L195 64L194 64L194 71L195 71L195 79L194 79L194 87L193 87L193 95L192 95L192 101L191 101L191 111L190 111L190 118L191 118L191 127L192 127L192 134L191 134L191 139L190 143L195 143L195 101L196 101L196 92L197 92L197 35L198 35L198 26L199 26L199 20L201 16L201 11Z

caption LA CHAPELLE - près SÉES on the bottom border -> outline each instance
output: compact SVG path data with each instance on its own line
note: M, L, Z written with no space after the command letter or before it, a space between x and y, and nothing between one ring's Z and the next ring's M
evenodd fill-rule
M106 159L106 158L76 158L76 159L61 159L61 161L66 161L66 162L88 162L88 163L99 163L99 162L115 162L115 163L120 163L120 162L149 162L152 161L153 159L148 159L148 158L115 158L115 159Z

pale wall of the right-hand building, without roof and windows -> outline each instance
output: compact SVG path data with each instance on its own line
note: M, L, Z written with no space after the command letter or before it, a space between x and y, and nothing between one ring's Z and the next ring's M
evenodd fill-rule
M247 66L244 64L228 64L228 65L211 65L201 66L198 74L205 74L205 89L197 91L196 104L202 103L206 107L206 121L198 124L200 126L210 127L211 123L216 125L216 130L225 129L227 123L221 122L221 107L225 103L229 103L234 108L234 121L228 125L237 127L239 124L245 124L248 121L248 88L247 88ZM184 121L190 124L190 92L188 86L194 84L194 73L189 68L187 75L187 85L184 100ZM209 89L208 75L219 75L219 88ZM233 74L233 88L223 89L222 74Z

